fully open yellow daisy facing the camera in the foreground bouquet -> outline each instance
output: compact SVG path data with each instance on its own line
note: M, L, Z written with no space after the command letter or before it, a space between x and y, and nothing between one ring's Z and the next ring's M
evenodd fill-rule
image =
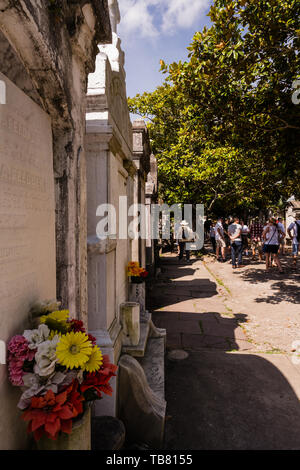
M92 350L93 345L85 333L71 331L60 338L56 355L61 365L77 369L88 361Z

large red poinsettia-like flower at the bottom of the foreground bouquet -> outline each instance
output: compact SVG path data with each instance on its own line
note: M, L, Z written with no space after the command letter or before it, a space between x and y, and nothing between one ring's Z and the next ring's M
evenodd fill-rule
M57 439L60 431L70 434L72 419L83 411L83 399L77 380L57 395L48 390L42 397L33 397L29 409L22 415L24 421L29 421L27 432L33 432L37 441L44 434L52 440Z

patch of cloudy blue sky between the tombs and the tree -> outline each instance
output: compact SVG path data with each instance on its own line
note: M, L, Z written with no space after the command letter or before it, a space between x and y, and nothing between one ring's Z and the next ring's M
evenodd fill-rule
M118 34L126 54L127 94L153 91L164 76L159 61L187 58L195 31L209 25L212 0L119 0Z

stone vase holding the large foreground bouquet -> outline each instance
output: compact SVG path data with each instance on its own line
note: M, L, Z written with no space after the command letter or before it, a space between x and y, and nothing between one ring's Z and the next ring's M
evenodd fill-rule
M61 433L53 441L43 436L37 441L38 450L91 450L91 408L73 423L71 434Z

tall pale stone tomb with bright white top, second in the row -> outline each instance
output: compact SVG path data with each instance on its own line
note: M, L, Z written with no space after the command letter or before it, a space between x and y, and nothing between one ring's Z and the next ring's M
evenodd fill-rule
M96 70L89 76L86 114L88 174L88 312L89 329L111 360L118 362L123 339L120 306L128 300L127 263L131 240L119 237L119 215L133 201L132 127L126 96L124 54L117 36L118 4L110 1L112 43L99 45ZM119 198L125 207L119 207ZM125 198L127 198L125 200ZM116 233L99 240L97 207L111 204L116 213ZM126 227L127 228L127 227ZM95 406L96 416L115 415L117 385L112 398Z

